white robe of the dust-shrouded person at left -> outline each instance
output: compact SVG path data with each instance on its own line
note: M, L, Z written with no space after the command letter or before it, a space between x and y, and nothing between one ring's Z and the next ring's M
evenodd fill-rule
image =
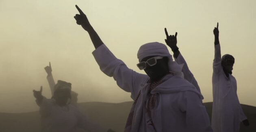
M38 103L41 114L42 132L106 132L107 129L89 122L87 118L73 105L60 107L55 100L43 97Z

